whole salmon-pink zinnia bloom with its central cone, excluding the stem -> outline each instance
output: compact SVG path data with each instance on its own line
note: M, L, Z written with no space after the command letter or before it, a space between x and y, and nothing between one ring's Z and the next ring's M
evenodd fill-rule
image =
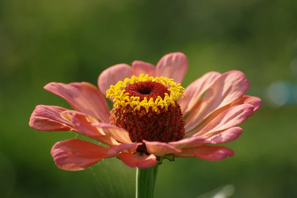
M244 95L249 83L241 71L209 72L184 89L187 68L187 57L175 52L156 67L142 61L111 66L99 75L99 89L86 82L49 83L45 89L74 110L38 105L29 125L41 131L74 131L107 146L80 139L57 142L51 155L65 170L82 170L115 156L138 168L164 158L233 156L232 149L213 145L237 139L243 131L237 126L261 100ZM113 102L111 111L106 97Z

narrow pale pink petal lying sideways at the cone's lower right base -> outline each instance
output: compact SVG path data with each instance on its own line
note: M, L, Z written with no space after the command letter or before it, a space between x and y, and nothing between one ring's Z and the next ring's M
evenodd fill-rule
M201 145L205 145L204 141L206 139L207 139L206 137L196 136L196 137L185 138L183 140L176 141L176 142L170 142L168 144L176 148L194 148Z

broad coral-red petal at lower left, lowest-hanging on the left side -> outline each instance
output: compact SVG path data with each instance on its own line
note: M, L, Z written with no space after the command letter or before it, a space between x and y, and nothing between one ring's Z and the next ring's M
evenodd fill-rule
M83 170L101 159L108 157L109 148L93 143L70 139L57 142L51 148L51 155L57 167L64 170Z

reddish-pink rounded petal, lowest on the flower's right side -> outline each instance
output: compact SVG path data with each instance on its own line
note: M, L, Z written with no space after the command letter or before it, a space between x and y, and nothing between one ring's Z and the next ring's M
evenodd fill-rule
M192 152L198 158L212 161L222 160L227 156L232 157L234 155L233 150L223 146L202 146L193 149Z

